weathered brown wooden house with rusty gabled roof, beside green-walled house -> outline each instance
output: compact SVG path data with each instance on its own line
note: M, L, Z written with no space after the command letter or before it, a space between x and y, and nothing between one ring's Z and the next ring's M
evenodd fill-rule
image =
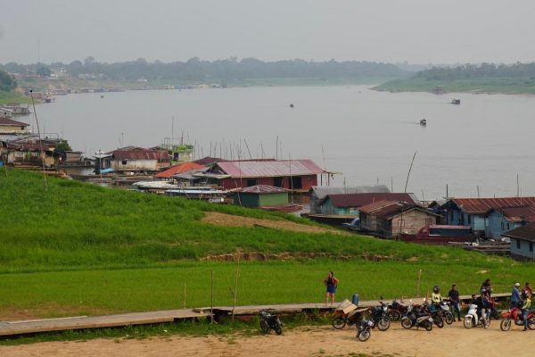
M414 235L420 228L436 224L438 217L418 204L399 201L379 201L359 209L360 228L380 237Z

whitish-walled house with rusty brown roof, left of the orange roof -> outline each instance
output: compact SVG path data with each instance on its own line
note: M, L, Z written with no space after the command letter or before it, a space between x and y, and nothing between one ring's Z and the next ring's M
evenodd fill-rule
M95 154L95 170L113 169L118 172L156 172L169 167L169 155L166 150L144 149L138 146L126 146L109 153Z

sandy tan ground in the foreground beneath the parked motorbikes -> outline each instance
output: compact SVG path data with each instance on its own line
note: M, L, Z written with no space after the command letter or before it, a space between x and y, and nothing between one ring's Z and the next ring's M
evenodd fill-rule
M386 332L373 330L367 342L359 342L354 328L298 328L282 336L152 337L96 339L86 342L46 342L34 345L0 346L0 356L531 356L535 331L513 327L499 330L463 328L462 323L445 328L406 330L396 323Z

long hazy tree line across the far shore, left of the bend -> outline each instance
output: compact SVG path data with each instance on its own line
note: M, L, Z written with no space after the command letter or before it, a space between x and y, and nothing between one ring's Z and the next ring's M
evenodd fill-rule
M84 62L73 61L68 64L54 62L50 65L18 64L9 62L0 65L4 71L16 73L45 73L42 68L66 68L71 76L79 74L103 74L111 79L182 79L192 81L230 80L230 79L271 79L271 78L384 78L406 74L394 64L381 62L314 62L303 60L263 62L254 58L238 60L229 58L218 61L202 61L194 57L186 62L164 63L147 62L143 58L131 62L96 62L87 57Z

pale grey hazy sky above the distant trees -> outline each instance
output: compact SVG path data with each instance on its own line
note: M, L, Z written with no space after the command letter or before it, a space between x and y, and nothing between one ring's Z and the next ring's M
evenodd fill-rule
M532 62L534 16L533 0L0 0L0 62Z

